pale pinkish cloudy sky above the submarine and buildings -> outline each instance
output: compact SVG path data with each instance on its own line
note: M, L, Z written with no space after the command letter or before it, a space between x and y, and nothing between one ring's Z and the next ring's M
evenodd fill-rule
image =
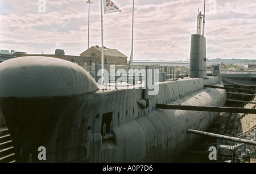
M86 0L1 0L0 49L79 56L88 48ZM104 46L131 53L132 0L113 0L122 12L104 15ZM134 60L187 60L203 0L135 0ZM256 58L256 1L206 0L207 58ZM214 6L215 5L215 6ZM90 45L101 45L100 0L90 5Z

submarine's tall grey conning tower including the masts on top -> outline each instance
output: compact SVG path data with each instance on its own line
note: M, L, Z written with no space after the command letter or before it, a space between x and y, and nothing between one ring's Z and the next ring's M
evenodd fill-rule
M204 19L203 31L201 27L202 19ZM202 15L201 12L198 13L196 34L191 35L191 50L189 60L190 78L207 78L206 39L204 37L204 27L205 10L204 15Z

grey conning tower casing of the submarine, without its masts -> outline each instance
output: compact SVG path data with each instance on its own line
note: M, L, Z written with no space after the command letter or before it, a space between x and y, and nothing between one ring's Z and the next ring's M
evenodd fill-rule
M189 77L206 78L207 77L207 56L206 41L201 35L191 35L191 51L189 60Z

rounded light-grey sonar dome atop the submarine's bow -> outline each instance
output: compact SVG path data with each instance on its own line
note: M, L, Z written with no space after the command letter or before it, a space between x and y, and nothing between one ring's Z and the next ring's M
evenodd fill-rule
M18 57L4 61L0 74L2 97L69 96L99 90L98 84L82 67L51 57Z

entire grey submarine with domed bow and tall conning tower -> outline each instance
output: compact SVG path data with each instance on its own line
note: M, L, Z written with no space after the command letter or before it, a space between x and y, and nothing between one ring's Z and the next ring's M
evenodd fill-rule
M75 63L18 57L0 63L0 114L13 140L15 161L175 162L220 112L159 109L157 104L225 105L220 77L207 77L206 39L198 14L191 35L189 77L150 88L104 90ZM46 158L40 159L40 148Z

